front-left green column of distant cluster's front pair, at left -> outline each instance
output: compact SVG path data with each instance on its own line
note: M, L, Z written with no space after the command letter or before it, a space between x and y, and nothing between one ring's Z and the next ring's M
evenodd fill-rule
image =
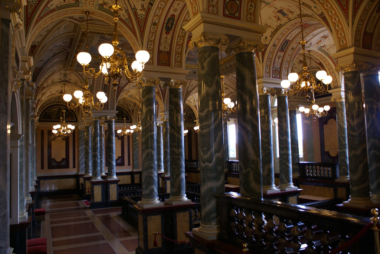
M99 142L99 121L101 117L92 117L92 179L100 180L100 142Z

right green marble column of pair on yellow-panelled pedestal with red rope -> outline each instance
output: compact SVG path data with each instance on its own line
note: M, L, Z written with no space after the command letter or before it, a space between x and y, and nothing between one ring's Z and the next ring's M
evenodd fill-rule
M171 80L169 85L169 154L170 154L170 196L169 204L191 202L185 190L185 145L184 108L182 88L186 81Z

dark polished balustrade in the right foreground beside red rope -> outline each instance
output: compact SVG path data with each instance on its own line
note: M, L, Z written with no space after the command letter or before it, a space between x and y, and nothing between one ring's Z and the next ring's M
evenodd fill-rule
M329 253L371 222L345 213L244 198L238 193L217 197L221 218L218 240L240 248L247 243L250 253ZM350 253L374 253L373 240L369 230L351 245Z

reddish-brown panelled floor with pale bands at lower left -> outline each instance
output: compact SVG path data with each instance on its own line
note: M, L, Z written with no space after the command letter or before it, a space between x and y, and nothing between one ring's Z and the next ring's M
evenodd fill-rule
M48 254L135 253L137 230L119 214L121 207L89 209L77 195L44 197L41 237Z

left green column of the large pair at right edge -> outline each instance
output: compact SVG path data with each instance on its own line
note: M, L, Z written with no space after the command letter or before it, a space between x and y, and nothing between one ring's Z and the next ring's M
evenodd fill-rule
M361 92L360 72L346 71L344 97L347 121L348 165L350 167L350 199L345 206L372 207L366 142L366 121Z

